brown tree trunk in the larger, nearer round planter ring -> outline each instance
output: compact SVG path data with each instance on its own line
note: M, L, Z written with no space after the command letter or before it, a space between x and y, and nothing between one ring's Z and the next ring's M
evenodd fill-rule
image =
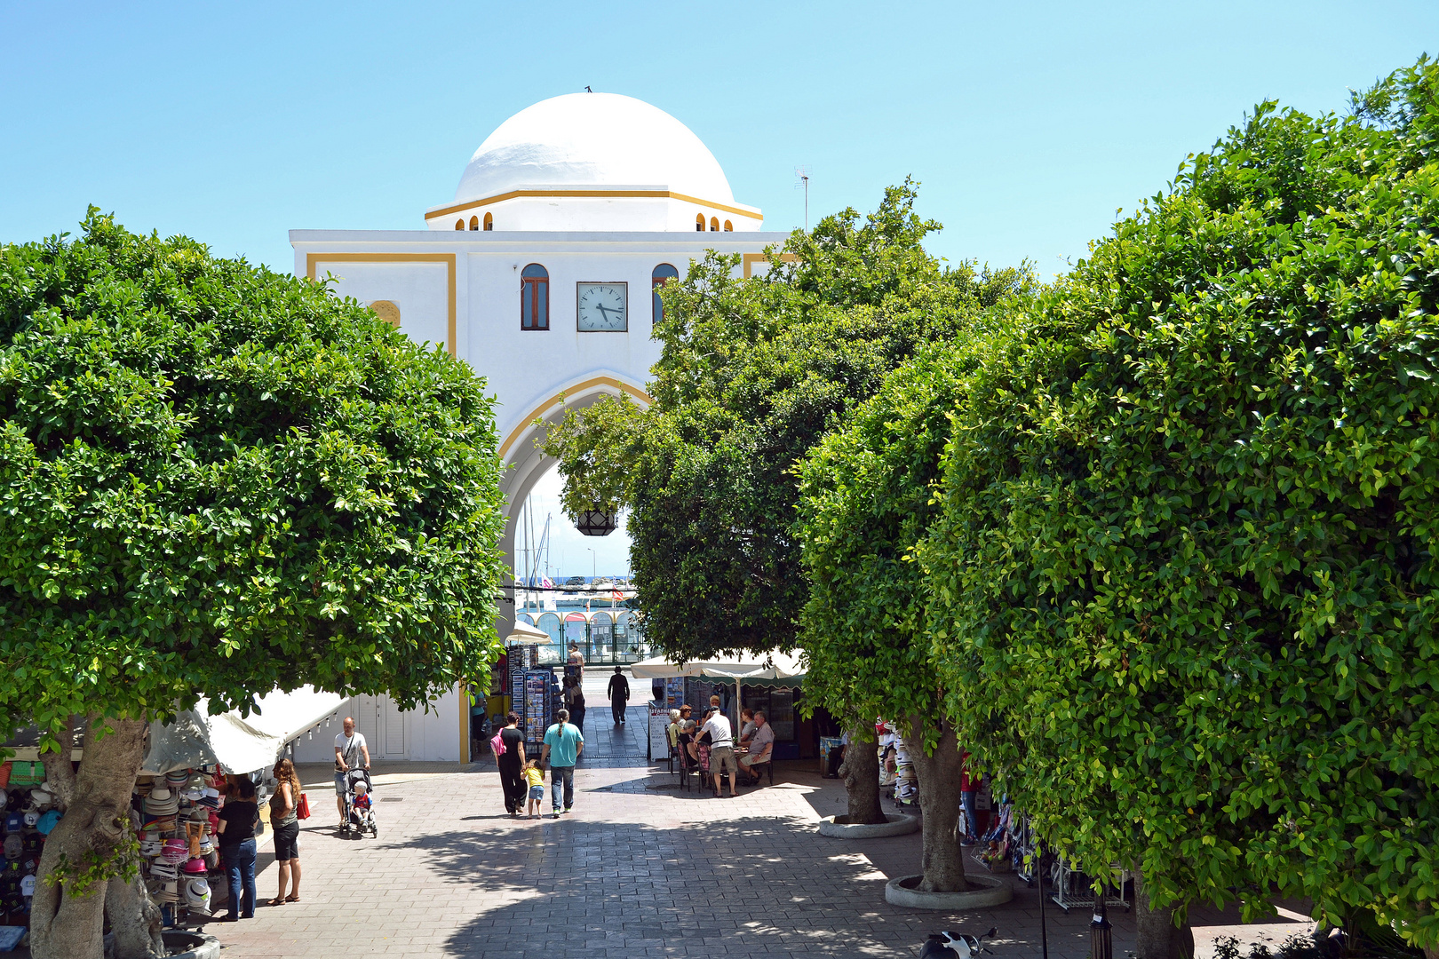
M954 728L940 723L940 742L934 755L925 755L924 716L909 717L909 758L920 776L920 811L922 812L924 876L917 887L921 893L963 893L970 887L964 878L964 851L955 832L960 821L960 772L964 768Z

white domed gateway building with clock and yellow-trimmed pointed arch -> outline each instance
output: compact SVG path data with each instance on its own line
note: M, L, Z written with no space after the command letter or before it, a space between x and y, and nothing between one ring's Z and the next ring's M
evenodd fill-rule
M555 96L507 119L475 151L453 203L427 210L425 224L291 230L295 273L335 276L340 293L414 339L443 344L488 380L511 467L511 568L515 516L553 466L534 449L532 421L602 395L648 403L645 382L659 358L655 286L708 249L741 253L738 269L750 275L764 247L786 236L760 231L760 211L735 203L720 164L684 124L614 93ZM514 610L501 614L507 634ZM458 690L429 715L401 713L386 697L345 710L377 758L469 758ZM296 758L330 759L324 733L296 743Z

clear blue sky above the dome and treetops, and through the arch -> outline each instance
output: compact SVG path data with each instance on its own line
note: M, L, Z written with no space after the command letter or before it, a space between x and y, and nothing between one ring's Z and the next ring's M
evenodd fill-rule
M0 242L95 203L288 270L286 230L423 229L489 131L591 85L685 122L766 229L802 224L800 164L812 220L914 175L935 254L1048 276L1256 101L1343 111L1436 37L1432 0L0 0ZM564 572L587 574L574 539ZM623 536L602 542L623 572Z

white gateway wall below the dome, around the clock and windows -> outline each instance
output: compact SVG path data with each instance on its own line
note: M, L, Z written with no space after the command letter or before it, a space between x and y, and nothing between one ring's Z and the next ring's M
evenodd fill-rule
M694 213L688 213L694 220ZM468 217L466 217L468 219ZM758 254L784 233L740 231L455 231L455 230L292 230L295 272L305 276L307 256L317 254L317 275L328 269L338 279L335 289L361 302L387 299L400 308L400 329L414 339L445 342L449 322L449 266L435 262L390 262L396 253L455 254L456 348L458 357L486 378L498 398L496 426L504 443L508 470L504 490L511 519L502 549L514 562L512 518L525 493L550 464L534 450L537 410L564 393L568 404L593 403L614 394L625 384L643 390L649 368L659 358L659 344L650 338L650 276L659 263L669 263L681 276L691 260L707 249ZM325 254L373 256L377 262L325 260ZM519 328L519 272L541 263L550 273L550 329ZM763 265L753 265L757 272ZM740 273L743 267L735 267ZM578 332L576 328L577 282L623 282L629 285L627 332ZM544 408L554 420L561 405ZM501 605L496 624L508 633L512 607ZM390 728L384 726L386 702L347 702L337 719L321 725L296 742L301 762L328 762L340 719L355 716L371 745L371 756L389 759L458 761L460 758L460 696L450 690L432 705L429 715L403 716L403 748L390 749ZM466 710L468 712L468 710ZM381 746L384 746L381 749Z

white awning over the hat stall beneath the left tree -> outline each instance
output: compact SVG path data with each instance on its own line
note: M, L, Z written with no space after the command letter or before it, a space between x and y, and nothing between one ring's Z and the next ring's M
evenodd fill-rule
M155 775L220 763L229 772L269 769L291 739L319 725L344 697L302 686L292 693L275 690L258 700L258 710L207 716L207 700L170 723L150 723L150 751L142 772Z

